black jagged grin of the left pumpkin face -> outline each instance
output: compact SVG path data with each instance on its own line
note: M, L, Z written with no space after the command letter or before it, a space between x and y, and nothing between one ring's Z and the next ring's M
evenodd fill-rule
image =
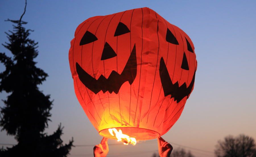
M108 91L110 93L114 92L117 94L124 82L129 81L129 84L131 85L137 75L135 44L121 75L119 75L116 71L112 71L108 79L106 79L103 75L100 75L98 80L96 80L91 75L86 73L86 71L84 71L78 63L76 63L76 69L81 82L95 94L101 90L103 93Z

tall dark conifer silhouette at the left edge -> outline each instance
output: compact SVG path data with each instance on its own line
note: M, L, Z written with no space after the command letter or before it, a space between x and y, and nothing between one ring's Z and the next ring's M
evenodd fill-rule
M27 3L26 3L27 4ZM26 5L24 9L25 14ZM52 102L50 95L44 95L38 89L39 84L46 80L48 74L37 68L37 44L28 38L32 30L26 30L22 25L27 22L20 20L11 21L14 30L9 31L9 43L2 44L13 54L13 58L0 53L0 61L6 67L0 73L0 92L11 93L5 106L1 108L0 126L7 131L7 135L14 135L18 144L12 148L1 149L0 156L67 156L73 146L73 138L69 144L62 144L60 136L63 127L59 125L53 135L47 135L44 129L48 127L51 117Z

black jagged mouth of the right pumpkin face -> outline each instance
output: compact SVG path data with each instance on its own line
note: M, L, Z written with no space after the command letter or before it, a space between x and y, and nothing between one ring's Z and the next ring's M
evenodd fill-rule
M162 57L160 60L159 74L164 90L164 96L171 95L171 98L174 98L174 101L177 100L177 103L179 103L185 96L189 96L189 94L191 93L195 82L195 73L188 87L185 82L179 87L178 81L174 84L172 83L166 65L164 63L164 59Z

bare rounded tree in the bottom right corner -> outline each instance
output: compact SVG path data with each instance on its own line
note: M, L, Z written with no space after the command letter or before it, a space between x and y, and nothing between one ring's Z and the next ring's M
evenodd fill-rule
M243 134L233 137L231 135L218 141L214 153L217 157L256 157L254 139Z

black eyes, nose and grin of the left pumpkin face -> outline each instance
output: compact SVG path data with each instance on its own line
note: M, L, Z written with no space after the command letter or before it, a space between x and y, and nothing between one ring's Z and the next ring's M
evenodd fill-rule
M117 25L117 28L115 30L115 34L113 34L113 36L114 37L121 36L121 35L129 33L129 32L130 32L130 30L127 28L127 26L125 24L119 22ZM87 30L84 33L84 36L82 37L82 39L80 41L80 46L89 44L92 42L95 42L95 44L96 44L97 40L98 40L98 38L94 34L92 34L91 32L89 32ZM117 54L113 50L113 48L108 44L108 42L105 42L100 61L103 61L103 64L104 64L105 60L114 58L116 56L117 56ZM126 60L126 59L123 58L121 60ZM96 63L96 64L98 64L98 63ZM129 59L128 59L125 67L123 68L123 71L121 72L121 74L117 73L117 70L114 68L114 70L112 70L112 71L111 71L111 69L108 70L108 72L111 71L110 75L108 76L108 79L106 79L106 77L104 77L105 72L104 72L104 74L101 74L98 79L96 79L96 78L90 76L88 73L86 73L86 71L84 71L78 63L76 63L76 69L77 69L77 73L78 73L78 76L79 76L79 79L81 80L81 82L95 94L97 94L100 91L102 91L103 93L108 91L108 92L110 92L110 94L112 92L117 94L124 82L128 81L129 84L131 85L137 75L137 59L136 59L135 44L134 44L133 50L130 53Z

